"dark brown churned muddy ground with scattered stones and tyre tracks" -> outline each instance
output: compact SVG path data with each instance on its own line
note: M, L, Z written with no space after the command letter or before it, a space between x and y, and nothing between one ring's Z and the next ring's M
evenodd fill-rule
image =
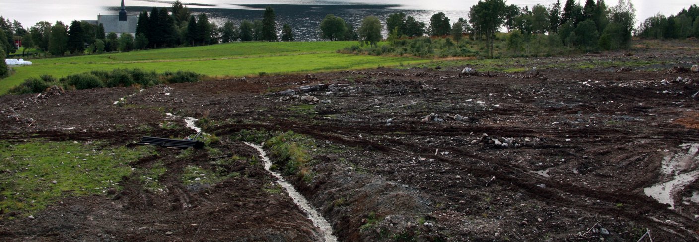
M2 139L131 146L141 135L192 133L169 112L206 118L220 152L159 149L131 165L162 162L163 190L124 177L117 195L0 220L0 240L317 241L286 193L269 192L274 179L261 164L212 165L257 156L240 130L292 130L317 148L310 179L287 180L340 241L651 241L647 232L698 241L699 73L689 66L699 50L633 54L507 64L561 64L523 73L459 77L464 64L2 96ZM566 67L605 61L618 64ZM340 85L299 93L313 104L271 94L309 84ZM168 122L179 126L161 127ZM180 176L193 164L245 175L187 186ZM665 204L647 195L663 183L674 184Z

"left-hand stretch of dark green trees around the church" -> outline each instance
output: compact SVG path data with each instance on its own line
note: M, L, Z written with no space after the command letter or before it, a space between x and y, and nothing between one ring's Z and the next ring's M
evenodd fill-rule
M16 20L10 22L0 17L0 52L3 52L0 56L17 51L15 39L22 40L24 51L36 48L41 52L60 56L211 45L237 40L277 41L280 38L277 36L275 13L272 8L266 8L262 20L244 20L240 27L228 21L224 26L218 27L208 20L206 14L192 15L192 12L180 1L175 1L171 8L152 8L150 13L148 11L139 13L135 36L130 33L121 35L113 32L105 33L102 24L95 25L78 20L74 20L70 25L60 21L55 24L42 21L29 29L24 29ZM291 25L284 24L281 40L293 41L294 39Z

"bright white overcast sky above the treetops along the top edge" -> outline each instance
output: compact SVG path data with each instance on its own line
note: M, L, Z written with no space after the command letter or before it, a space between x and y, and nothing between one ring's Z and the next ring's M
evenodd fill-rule
M584 0L581 4L584 4ZM126 0L127 6L169 6L168 0ZM165 3L164 3L165 2ZM403 5L405 9L417 10L463 10L468 12L470 6L477 3L477 0L182 0L185 3L205 3L215 4L215 8L236 8L234 4L333 4L333 3L384 3ZM549 6L556 0L509 0L507 4L518 6L533 6L540 3ZM605 1L607 6L614 6L617 0ZM698 4L699 1L689 0L632 0L636 9L636 20L643 20L663 13L665 16L675 15L682 8L689 8L691 4ZM119 6L120 0L0 0L0 15L12 20L20 21L24 27L30 27L38 21L55 22L57 20L64 23L72 20L96 20L97 14L110 14L103 9L103 6ZM565 4L565 0L561 0ZM190 6L197 8L197 6Z

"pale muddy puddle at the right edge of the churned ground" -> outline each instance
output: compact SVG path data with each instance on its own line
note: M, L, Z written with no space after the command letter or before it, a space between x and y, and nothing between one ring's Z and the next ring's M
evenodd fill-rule
M661 171L671 179L643 189L647 196L661 204L670 205L670 209L675 209L675 195L699 178L699 169L696 169L699 164L696 156L699 144L681 144L680 147L687 149L687 153L677 153L663 159Z

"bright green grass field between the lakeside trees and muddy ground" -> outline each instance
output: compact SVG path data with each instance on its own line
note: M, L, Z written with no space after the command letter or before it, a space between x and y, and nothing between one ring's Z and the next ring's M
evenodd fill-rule
M32 66L15 67L15 74L0 80L0 94L29 77L48 74L64 77L90 70L142 68L164 72L191 70L210 76L245 76L259 73L304 73L326 70L375 68L424 63L429 60L408 57L356 56L336 54L355 45L354 41L334 42L246 42L146 50L119 54L96 54L29 60Z

